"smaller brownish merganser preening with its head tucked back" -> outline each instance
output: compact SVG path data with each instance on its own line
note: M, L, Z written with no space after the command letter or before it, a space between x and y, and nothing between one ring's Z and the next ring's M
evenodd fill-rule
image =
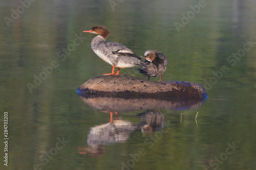
M166 65L168 63L166 57L158 52L158 51L146 51L143 57L145 63L147 64L146 67L138 68L139 72L144 76L148 76L148 80L150 77L157 77L160 76L159 82L162 81L162 74L166 69Z

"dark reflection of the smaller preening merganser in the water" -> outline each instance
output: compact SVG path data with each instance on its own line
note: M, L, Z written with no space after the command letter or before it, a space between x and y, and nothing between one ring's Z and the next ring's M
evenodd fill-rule
M142 133L160 131L164 127L163 114L157 111L146 111L139 114L141 116Z

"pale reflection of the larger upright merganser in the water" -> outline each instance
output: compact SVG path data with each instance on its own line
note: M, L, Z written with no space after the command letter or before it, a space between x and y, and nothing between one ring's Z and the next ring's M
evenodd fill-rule
M120 119L114 120L113 123L92 127L87 139L89 147L78 147L78 153L102 155L104 154L103 145L125 142L136 128L137 125Z

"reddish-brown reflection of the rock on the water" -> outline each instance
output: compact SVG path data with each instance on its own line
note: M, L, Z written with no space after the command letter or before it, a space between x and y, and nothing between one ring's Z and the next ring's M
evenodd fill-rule
M200 98L169 98L169 99L151 99L151 98L111 98L109 96L101 97L95 95L80 95L81 100L95 110L114 111L114 112L132 112L136 110L160 108L166 110L184 110L196 109L200 107L205 100Z

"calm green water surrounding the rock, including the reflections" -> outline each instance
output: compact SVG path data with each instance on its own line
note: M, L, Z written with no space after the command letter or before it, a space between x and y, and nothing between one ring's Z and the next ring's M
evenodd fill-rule
M255 1L119 3L0 3L1 169L255 169ZM163 81L199 83L209 98L81 100L77 87L111 71L82 33L96 25L137 55L162 52Z

